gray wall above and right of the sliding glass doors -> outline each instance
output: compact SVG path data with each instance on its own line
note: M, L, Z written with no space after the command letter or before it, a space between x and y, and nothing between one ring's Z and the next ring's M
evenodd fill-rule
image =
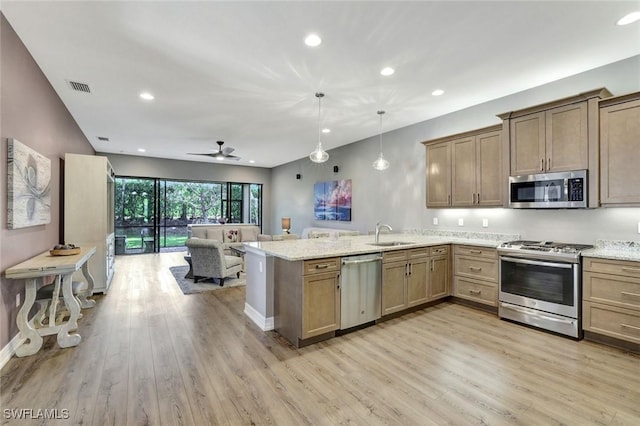
M119 176L154 177L177 180L203 180L216 182L261 183L262 232L271 234L271 169L243 167L219 163L168 160L119 154L106 154ZM275 228L278 229L278 228ZM279 230L279 229L278 229Z

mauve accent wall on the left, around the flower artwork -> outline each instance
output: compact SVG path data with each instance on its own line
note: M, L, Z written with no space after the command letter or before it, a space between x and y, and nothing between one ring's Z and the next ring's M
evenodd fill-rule
M55 46L52 46L55 48ZM0 349L13 339L16 294L24 284L4 278L4 271L58 242L60 158L66 152L93 155L89 141L64 106L25 46L0 14ZM90 96L90 95L87 95ZM51 223L7 228L7 139L15 138L51 160Z

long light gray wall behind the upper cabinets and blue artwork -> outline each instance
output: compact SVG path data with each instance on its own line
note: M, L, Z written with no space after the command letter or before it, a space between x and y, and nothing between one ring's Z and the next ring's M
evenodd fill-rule
M382 221L396 231L434 228L507 232L520 233L525 238L579 243L592 243L598 238L638 240L638 208L530 211L425 207L425 148L420 142L499 124L496 114L600 87L614 95L639 91L640 56L387 132L383 135L383 152L391 167L384 172L371 167L378 154L377 137L331 150L329 161L324 164L304 158L277 167L272 175L274 227L279 226L280 217L290 216L295 233L308 226L367 232ZM387 115L391 114L394 111L388 110ZM314 146L310 141L309 151ZM334 165L339 166L338 173L333 173ZM301 180L296 180L296 173L302 174ZM352 222L313 219L313 184L334 179L352 179ZM438 218L438 226L433 225L434 217ZM458 226L459 218L464 221L463 227ZM482 228L483 218L489 219L488 228Z

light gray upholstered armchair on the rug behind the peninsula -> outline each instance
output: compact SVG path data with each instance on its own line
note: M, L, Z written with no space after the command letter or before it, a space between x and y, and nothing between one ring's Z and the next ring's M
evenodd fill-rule
M217 278L223 286L225 277L236 274L240 278L242 258L226 255L221 241L189 238L186 245L191 252L193 282L211 277Z

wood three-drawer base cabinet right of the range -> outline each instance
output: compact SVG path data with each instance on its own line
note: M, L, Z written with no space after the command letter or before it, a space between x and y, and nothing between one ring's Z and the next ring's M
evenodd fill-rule
M582 271L584 331L640 350L640 262L585 257Z

